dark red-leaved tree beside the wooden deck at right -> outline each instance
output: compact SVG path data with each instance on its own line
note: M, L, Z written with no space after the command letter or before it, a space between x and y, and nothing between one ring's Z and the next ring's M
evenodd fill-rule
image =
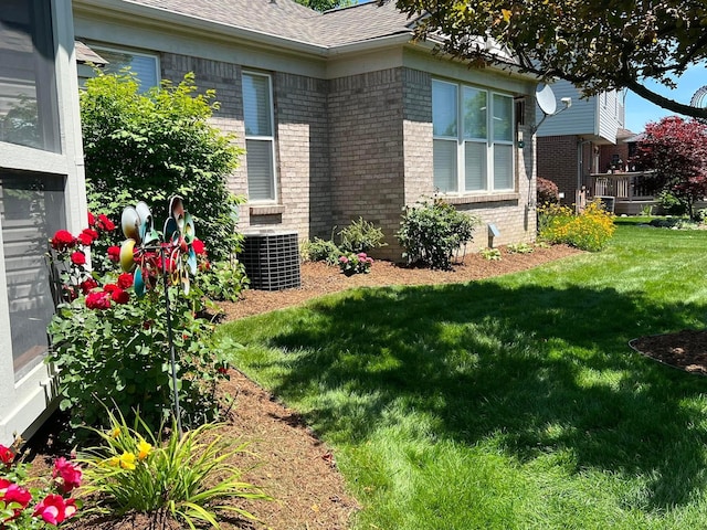
M707 195L707 125L678 116L647 124L635 162L652 170L650 192L669 191L695 219L695 202Z

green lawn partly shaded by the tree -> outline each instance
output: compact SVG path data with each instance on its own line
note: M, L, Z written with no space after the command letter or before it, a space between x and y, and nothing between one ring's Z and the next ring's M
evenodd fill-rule
M223 325L336 449L357 529L707 528L707 379L635 353L701 328L707 231ZM275 497L277 492L273 492Z

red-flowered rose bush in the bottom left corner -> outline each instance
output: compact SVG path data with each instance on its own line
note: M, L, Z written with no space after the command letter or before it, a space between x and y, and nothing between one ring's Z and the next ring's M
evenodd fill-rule
M40 529L61 526L81 501L71 494L81 486L82 469L64 457L54 460L52 478L29 479L29 465L11 447L0 445L0 529Z

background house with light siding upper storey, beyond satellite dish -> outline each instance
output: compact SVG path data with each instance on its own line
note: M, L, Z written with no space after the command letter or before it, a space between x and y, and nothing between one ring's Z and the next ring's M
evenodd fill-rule
M624 129L623 92L581 98L566 81L552 84L552 91L558 99L571 97L572 106L548 117L536 132L538 177L553 181L563 193L562 202L572 204L578 190L593 193L591 173L606 172L618 160L626 163L629 148L623 140L634 134ZM536 117L539 121L540 110Z

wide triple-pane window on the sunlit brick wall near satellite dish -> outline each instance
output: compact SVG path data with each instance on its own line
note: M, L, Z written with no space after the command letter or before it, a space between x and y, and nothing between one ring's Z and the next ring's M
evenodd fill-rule
M443 193L514 189L513 97L432 82L434 186Z

